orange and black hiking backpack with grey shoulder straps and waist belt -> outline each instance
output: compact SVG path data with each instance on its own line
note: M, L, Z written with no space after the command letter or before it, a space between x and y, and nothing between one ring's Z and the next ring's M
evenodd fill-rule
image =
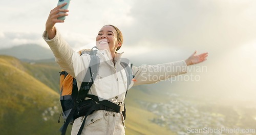
M96 48L96 47L94 47ZM93 48L93 49L94 49ZM60 128L62 134L66 133L67 127L70 124L73 124L73 121L80 117L85 116L83 119L83 123L79 129L78 134L81 133L82 128L84 126L84 122L86 117L92 114L95 110L104 109L109 111L120 112L120 105L114 104L108 100L100 99L95 95L89 95L88 92L90 87L93 84L93 81L97 75L99 68L99 57L96 56L97 50L81 50L78 53L82 54L90 54L91 61L89 64L89 68L87 70L86 76L84 77L84 81L81 84L81 87L78 91L76 79L73 78L65 71L61 71L60 73L60 104L62 107L62 117L64 119L64 124ZM125 70L127 77L127 89L132 82L134 76L132 75L132 64L129 66L130 61L125 58L121 58L120 64ZM127 89L125 96L127 94ZM84 98L89 97L90 100L84 100ZM97 102L97 104L96 104ZM98 104L99 103L99 104ZM123 117L125 119L125 106L123 105ZM61 116L60 114L60 116ZM58 122L60 122L60 116Z

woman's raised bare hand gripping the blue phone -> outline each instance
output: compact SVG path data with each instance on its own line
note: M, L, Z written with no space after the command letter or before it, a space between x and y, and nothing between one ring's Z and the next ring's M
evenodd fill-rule
M63 3L61 5L58 5L57 7L55 7L54 9L51 10L48 19L46 21L46 31L48 33L49 39L54 38L56 31L55 31L55 24L57 22L64 22L64 20L59 20L58 17L61 16L67 16L69 12L69 10L67 9L61 9L61 7L67 5L67 3ZM59 13L59 12L63 12L63 13ZM59 14L58 14L59 13Z

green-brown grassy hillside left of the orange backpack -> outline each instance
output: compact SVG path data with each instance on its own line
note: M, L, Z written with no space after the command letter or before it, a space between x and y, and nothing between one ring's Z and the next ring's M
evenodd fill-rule
M58 93L13 57L0 56L1 134L58 134Z

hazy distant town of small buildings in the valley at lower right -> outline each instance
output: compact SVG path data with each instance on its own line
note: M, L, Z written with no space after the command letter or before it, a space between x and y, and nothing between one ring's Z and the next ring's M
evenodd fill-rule
M240 120L245 116L239 115L239 110L236 110L238 109L236 107L222 109L221 111L225 112L220 113L220 108L207 109L211 106L197 105L194 102L181 99L177 94L169 94L169 96L172 100L168 103L138 102L157 116L150 121L177 134L241 134L238 130L246 128L246 125L243 125ZM216 112L212 110L216 110ZM253 117L248 118L255 123L256 120ZM247 124L251 120L248 120ZM253 128L253 126L247 128ZM200 129L201 132L199 132ZM247 134L253 134L253 131L255 133L255 128L248 131Z

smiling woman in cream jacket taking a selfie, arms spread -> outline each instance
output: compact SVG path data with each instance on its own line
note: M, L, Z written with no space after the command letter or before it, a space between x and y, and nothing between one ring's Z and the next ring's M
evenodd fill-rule
M68 10L61 9L65 5L59 5L51 10L43 34L55 55L56 62L61 69L76 79L76 83L72 84L77 84L79 91L75 95L77 98L73 103L74 107L71 107L71 113L61 128L62 134L66 133L71 119L74 119L72 134L125 134L123 102L128 89L184 74L188 65L201 63L208 56L208 53L196 55L195 51L186 60L136 67L129 59L122 58L122 53L116 52L122 46L123 37L121 31L112 25L105 25L99 30L96 36L96 49L93 48L90 53L78 54L55 28L56 23L64 22L57 18L68 15ZM178 70L166 70L169 68ZM64 89L64 85L62 88ZM74 97L73 91L71 97ZM78 113L75 113L76 111Z

